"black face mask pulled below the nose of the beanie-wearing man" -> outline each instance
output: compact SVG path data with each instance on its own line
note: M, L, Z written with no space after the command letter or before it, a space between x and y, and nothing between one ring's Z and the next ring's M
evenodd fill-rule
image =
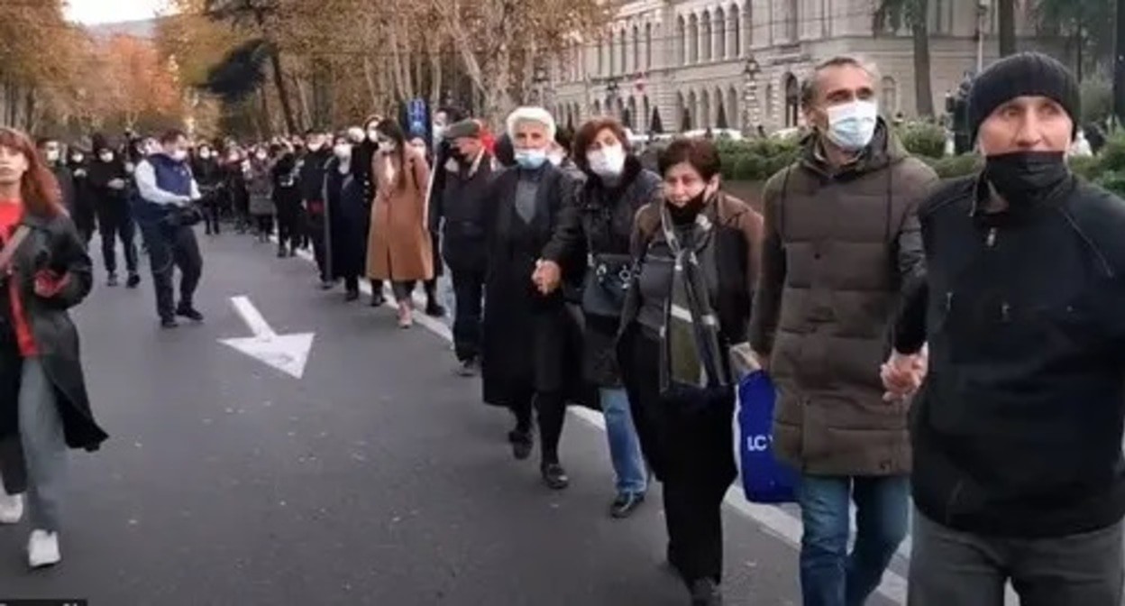
M1070 179L1063 152L1027 151L989 155L984 176L1009 205L1048 199Z

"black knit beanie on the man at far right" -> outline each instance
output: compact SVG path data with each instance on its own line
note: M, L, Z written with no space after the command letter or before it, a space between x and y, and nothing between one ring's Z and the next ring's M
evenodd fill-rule
M989 65L969 91L969 131L976 141L981 123L997 107L1016 97L1042 96L1054 99L1070 114L1078 132L1082 96L1078 80L1065 65L1042 53L1018 53Z

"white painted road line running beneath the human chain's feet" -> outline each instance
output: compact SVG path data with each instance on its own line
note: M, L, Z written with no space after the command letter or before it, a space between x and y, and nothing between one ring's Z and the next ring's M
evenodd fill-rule
M305 250L298 250L297 255L305 260L314 261L313 255ZM370 296L371 286L370 284L362 282L360 283L360 291ZM385 287L385 296L389 295L389 287ZM414 302L420 305L425 304L425 300L420 297L417 294L414 295ZM384 304L387 308L396 308L393 296L387 296L387 302ZM434 320L428 315L415 313L414 321L426 330L438 335L447 341L453 340L452 331L443 322ZM601 413L580 407L570 407L569 411L575 417L582 419L588 425L604 431L605 420ZM732 485L727 491L727 497L723 499L728 506L735 511L741 514L756 522L762 528L770 534L783 540L785 543L790 544L795 549L800 549L801 545L801 520L794 518L793 516L786 514L781 508L768 505L757 505L752 503L746 500L742 496L741 488L737 484ZM904 552L900 549L900 554L904 558L909 558L909 551ZM879 586L879 592L884 597L893 601L894 604L906 605L907 603L907 580L903 579L898 573L888 570L883 573L883 581Z

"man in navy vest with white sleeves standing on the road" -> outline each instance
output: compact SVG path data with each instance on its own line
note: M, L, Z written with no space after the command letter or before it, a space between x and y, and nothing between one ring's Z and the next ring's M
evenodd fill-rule
M161 151L137 164L136 180L142 203L137 219L148 242L148 261L156 289L160 326L176 328L176 317L202 322L195 308L196 287L204 261L196 240L192 204L202 198L188 167L188 139L180 131L160 137ZM180 302L174 303L172 276L180 269Z

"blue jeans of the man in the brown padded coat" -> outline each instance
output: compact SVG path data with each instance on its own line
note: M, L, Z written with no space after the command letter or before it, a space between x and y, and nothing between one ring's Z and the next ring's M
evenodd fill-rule
M879 587L910 517L907 475L804 475L798 488L801 520L801 595L804 606L863 606ZM855 500L856 538L847 552Z

